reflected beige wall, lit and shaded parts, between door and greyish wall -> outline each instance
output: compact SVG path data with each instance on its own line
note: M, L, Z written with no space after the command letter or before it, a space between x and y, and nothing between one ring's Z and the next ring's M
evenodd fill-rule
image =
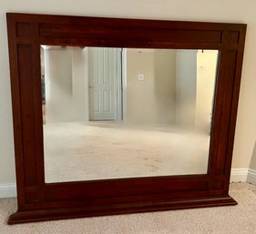
M127 49L126 100L128 124L175 123L174 50Z

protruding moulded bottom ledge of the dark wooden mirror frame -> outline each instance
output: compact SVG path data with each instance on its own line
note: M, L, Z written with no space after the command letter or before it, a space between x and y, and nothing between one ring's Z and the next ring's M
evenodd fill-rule
M48 221L57 219L76 219L86 217L130 214L139 212L164 211L171 209L196 209L220 206L237 205L237 201L229 195L218 198L193 198L175 201L159 201L147 203L128 203L91 208L60 208L60 209L37 209L28 211L16 211L12 214L7 223L18 224L26 222Z

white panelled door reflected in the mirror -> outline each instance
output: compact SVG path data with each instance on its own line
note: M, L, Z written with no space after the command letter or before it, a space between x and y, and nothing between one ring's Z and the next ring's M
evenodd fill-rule
M89 120L114 120L118 108L118 50L88 48Z

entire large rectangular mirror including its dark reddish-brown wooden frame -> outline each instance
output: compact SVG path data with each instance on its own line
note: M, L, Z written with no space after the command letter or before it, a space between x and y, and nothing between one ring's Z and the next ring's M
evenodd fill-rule
M235 205L246 25L7 14L9 224Z

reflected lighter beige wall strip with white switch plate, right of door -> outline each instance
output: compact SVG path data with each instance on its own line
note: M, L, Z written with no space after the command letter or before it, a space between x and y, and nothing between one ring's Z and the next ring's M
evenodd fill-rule
M138 75L145 80L139 81ZM156 120L154 51L127 50L127 116L128 124L149 124Z

